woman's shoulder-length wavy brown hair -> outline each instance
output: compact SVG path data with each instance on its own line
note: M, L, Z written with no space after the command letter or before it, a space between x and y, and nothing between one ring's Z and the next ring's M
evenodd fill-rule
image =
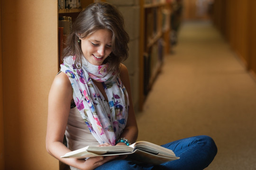
M78 15L67 37L63 59L69 55L76 56L75 66L81 68L83 55L78 39L85 38L99 29L112 32L112 52L104 63L109 63L109 70L119 70L120 63L128 58L129 35L124 29L122 14L107 2L92 3Z

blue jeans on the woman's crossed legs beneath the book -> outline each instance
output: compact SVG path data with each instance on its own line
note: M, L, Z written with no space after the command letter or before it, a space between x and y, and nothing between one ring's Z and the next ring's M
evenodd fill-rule
M129 160L113 160L95 170L203 170L217 154L217 147L209 136L189 137L162 146L173 150L180 159L154 166L141 166Z

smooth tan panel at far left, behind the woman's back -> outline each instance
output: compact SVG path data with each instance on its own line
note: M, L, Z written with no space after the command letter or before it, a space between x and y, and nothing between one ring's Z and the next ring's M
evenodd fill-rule
M57 170L45 149L47 95L58 69L57 0L1 0L1 19L0 164Z

